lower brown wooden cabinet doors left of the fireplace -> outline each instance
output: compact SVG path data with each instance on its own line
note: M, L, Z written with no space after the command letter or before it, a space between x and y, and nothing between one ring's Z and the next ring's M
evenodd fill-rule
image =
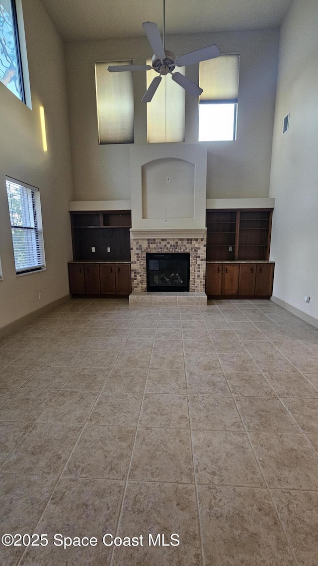
M69 263L71 295L129 295L129 263Z

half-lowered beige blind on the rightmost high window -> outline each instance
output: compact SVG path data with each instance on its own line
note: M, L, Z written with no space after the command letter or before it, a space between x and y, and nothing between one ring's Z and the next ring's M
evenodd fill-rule
M220 55L201 61L199 102L237 102L239 55Z

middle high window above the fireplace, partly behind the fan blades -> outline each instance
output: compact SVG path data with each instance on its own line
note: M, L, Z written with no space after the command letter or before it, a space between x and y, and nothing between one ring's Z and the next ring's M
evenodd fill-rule
M151 59L147 59L151 65ZM185 67L178 67L178 72L185 75ZM147 88L158 72L147 71ZM147 104L147 140L148 143L184 141L185 134L185 89L175 83L170 75L163 76L153 100Z

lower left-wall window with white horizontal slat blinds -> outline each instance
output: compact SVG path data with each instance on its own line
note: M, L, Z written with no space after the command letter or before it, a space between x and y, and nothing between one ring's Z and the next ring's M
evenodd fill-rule
M6 178L16 273L45 268L40 191Z

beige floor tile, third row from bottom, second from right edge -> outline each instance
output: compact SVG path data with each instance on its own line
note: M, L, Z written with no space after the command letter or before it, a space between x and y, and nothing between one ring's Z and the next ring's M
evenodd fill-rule
M279 399L236 397L236 403L248 431L299 432Z

